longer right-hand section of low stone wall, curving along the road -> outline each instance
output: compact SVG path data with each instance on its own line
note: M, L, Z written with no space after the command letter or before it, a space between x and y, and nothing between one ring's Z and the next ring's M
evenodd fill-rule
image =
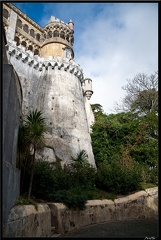
M89 200L85 210L69 210L62 203L50 203L51 225L55 233L103 222L158 217L158 188L112 200Z

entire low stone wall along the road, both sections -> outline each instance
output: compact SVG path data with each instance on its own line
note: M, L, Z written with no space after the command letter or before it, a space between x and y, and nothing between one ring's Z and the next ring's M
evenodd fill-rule
M92 224L158 218L158 187L112 200L90 200L85 210L62 203L16 206L10 211L6 237L54 237Z

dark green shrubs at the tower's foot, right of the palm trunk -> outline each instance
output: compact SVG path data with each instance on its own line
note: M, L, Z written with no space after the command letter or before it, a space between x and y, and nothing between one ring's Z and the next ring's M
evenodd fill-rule
M95 176L96 170L88 162L79 168L75 164L62 168L60 161L51 164L39 159L35 163L32 195L48 200L50 194L59 190L93 187Z

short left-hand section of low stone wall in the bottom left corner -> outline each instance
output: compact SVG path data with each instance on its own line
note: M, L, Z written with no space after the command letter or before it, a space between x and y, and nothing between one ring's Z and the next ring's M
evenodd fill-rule
M50 237L51 212L46 204L15 206L11 209L5 237Z

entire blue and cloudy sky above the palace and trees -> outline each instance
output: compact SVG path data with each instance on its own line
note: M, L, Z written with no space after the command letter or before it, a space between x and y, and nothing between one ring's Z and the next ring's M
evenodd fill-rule
M158 3L14 3L44 27L50 16L74 22L74 60L92 79L91 104L106 114L126 95L123 86L138 73L158 70Z

